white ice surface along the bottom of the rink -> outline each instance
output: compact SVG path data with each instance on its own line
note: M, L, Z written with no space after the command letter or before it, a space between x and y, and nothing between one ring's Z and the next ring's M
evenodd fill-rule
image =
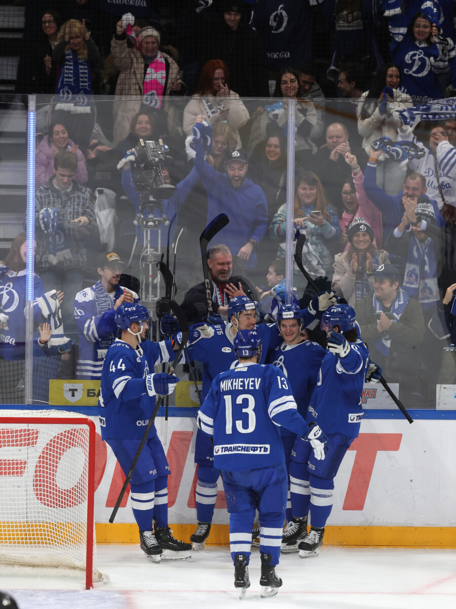
M190 560L146 560L138 546L98 546L98 568L110 583L84 590L81 578L7 576L0 589L19 609L225 609L274 605L299 609L455 609L456 551L323 546L319 557L282 555L277 596L260 599L260 556L252 548L250 588L239 600L227 547ZM260 605L258 605L260 604Z

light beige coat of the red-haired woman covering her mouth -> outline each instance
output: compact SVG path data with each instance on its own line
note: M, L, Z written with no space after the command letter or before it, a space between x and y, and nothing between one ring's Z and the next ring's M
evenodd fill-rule
M222 101L224 108L229 108L229 113L226 117L226 122L232 128L234 135L236 136L236 148L239 149L242 147L241 138L239 136L238 129L243 127L246 122L249 120L249 112L247 108L244 106L243 101L240 99L237 93L234 91L230 91L230 97L220 99L219 97L208 96L210 103L214 108L218 106L218 104ZM196 117L198 114L206 114L204 110L204 105L202 103L201 97L199 95L194 95L192 99L185 106L184 110L184 132L187 135L192 133L193 125L196 122ZM216 124L215 116L209 119L212 127Z

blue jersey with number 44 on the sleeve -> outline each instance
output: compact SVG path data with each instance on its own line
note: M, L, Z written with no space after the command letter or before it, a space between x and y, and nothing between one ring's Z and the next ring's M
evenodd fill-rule
M140 350L116 339L103 363L98 415L102 438L142 438L155 406L148 395L145 377L154 366L172 361L175 353L170 340L145 340ZM150 437L156 435L152 426Z

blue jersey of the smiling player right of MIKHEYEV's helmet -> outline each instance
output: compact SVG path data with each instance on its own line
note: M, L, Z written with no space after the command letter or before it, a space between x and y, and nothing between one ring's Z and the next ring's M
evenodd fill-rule
M298 412L302 417L306 416L323 357L325 357L325 350L311 340L304 340L297 345L286 345L283 342L269 355L269 362L279 368L288 380ZM281 427L280 435L296 434Z

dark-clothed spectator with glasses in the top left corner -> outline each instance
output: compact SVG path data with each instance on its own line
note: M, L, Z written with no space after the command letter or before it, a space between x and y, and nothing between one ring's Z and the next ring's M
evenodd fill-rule
M57 44L61 16L55 10L45 10L40 16L40 32L30 39L24 36L24 48L19 57L16 74L17 93L55 93L55 70L52 70L52 51ZM30 42L33 52L30 52Z

